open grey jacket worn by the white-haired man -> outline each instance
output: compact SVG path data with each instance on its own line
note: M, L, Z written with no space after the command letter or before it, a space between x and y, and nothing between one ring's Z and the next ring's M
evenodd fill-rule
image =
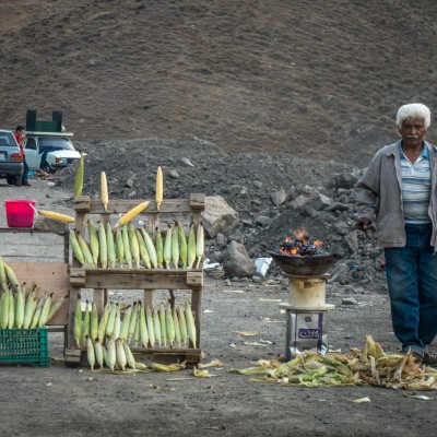
M424 142L429 152L432 194L428 214L433 222L432 246L437 250L437 147ZM400 142L379 150L355 186L358 217L369 218L376 225L379 247L405 246L405 229L401 191Z

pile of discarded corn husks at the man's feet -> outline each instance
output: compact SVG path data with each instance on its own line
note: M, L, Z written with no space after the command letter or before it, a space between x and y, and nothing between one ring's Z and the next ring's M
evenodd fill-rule
M305 352L291 362L258 361L247 369L233 369L240 375L262 375L253 382L279 382L282 386L321 387L359 386L437 390L437 369L421 367L408 354L386 354L379 343L366 336L363 351L353 349L350 355Z

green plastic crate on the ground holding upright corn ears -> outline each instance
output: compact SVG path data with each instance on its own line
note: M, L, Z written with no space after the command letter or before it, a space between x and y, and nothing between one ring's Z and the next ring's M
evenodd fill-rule
M0 329L0 364L49 367L47 329Z

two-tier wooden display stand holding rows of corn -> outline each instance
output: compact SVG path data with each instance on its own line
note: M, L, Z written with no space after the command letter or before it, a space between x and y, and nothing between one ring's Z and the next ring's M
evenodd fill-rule
M109 200L107 211L104 210L102 201L91 199L87 196L76 197L74 199L75 210L75 229L85 235L85 225L87 215L99 215L99 221L104 224L110 221L111 215L118 218L118 214L126 213L131 208L141 203L141 200ZM162 215L168 214L192 214L194 226L201 222L201 212L204 210L204 194L193 193L190 199L164 200L160 211L156 209L155 201L151 201L147 209L141 215L147 216L147 231L154 232ZM85 352L75 346L73 335L74 309L78 296L82 288L93 290L93 302L97 306L98 315L102 315L103 308L108 300L108 290L129 291L143 290L144 304L153 307L154 292L157 290L168 290L170 303L175 303L175 292L179 290L191 292L191 309L197 328L197 344L190 344L188 349L133 349L137 356L152 355L154 362L175 363L176 361L186 361L188 366L200 362L200 333L201 333L201 306L203 293L203 270L181 270L181 269L87 269L82 268L73 259L70 268L70 299L69 299L69 327L67 334L66 364L79 365L86 363Z

